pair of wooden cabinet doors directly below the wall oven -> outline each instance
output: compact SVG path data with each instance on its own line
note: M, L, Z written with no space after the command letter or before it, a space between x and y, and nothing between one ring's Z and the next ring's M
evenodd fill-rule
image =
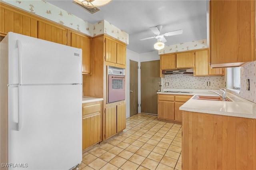
M107 107L104 120L105 134L103 134L103 140L126 128L126 104L122 103Z

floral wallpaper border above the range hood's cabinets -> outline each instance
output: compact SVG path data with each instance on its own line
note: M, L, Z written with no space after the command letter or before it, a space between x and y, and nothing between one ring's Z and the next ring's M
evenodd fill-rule
M189 51L194 49L207 48L207 39L184 42L174 45L167 45L164 49L158 50L158 54L175 53L179 51Z

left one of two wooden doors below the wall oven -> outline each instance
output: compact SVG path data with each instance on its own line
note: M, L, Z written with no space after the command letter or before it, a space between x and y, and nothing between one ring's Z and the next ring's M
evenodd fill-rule
M116 134L116 106L106 108L105 139Z

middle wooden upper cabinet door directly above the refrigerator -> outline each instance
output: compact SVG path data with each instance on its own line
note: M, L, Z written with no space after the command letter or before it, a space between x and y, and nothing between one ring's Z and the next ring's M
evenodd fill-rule
M50 42L68 45L67 29L38 21L38 38Z

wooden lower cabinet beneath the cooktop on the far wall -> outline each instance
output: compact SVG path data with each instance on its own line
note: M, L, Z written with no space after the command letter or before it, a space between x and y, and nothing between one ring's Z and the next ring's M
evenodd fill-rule
M181 123L182 112L179 108L191 97L192 95L158 94L158 119Z

